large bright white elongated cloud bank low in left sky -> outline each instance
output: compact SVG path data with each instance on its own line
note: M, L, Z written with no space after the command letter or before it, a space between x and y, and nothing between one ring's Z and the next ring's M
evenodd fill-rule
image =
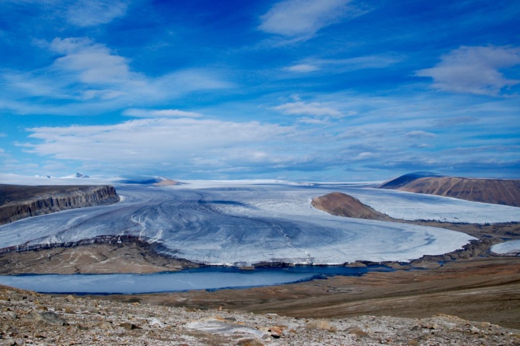
M257 162L259 156L249 153L262 152L265 141L281 140L294 129L258 122L160 117L115 125L28 130L32 132L29 137L37 143L19 144L24 151L100 167L106 164L138 167L163 162L189 166L207 159L217 159L224 166L233 160Z

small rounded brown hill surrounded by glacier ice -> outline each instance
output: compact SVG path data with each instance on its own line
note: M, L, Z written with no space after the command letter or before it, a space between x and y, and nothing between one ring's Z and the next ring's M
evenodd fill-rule
M347 218L390 220L385 214L372 209L358 199L341 192L332 192L313 199L313 207L327 211L329 214L345 216Z

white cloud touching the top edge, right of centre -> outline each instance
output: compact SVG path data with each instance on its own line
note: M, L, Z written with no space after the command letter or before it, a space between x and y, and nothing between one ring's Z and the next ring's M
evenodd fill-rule
M261 16L258 29L286 37L310 36L345 16L350 0L285 0Z

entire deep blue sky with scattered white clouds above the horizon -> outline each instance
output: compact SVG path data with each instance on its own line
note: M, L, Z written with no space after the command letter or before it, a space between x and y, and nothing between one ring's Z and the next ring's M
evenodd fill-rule
M520 3L0 1L0 172L520 178Z

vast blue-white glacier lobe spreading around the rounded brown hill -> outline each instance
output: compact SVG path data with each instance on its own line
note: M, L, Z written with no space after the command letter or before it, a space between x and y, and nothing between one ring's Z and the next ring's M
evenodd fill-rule
M89 179L69 183L76 181ZM353 195L398 218L520 220L520 208L348 184L187 181L170 187L115 185L124 197L120 203L66 210L0 227L0 248L128 234L157 239L171 255L208 264L341 264L408 261L453 251L473 239L439 228L331 216L311 207L312 198L333 191Z

